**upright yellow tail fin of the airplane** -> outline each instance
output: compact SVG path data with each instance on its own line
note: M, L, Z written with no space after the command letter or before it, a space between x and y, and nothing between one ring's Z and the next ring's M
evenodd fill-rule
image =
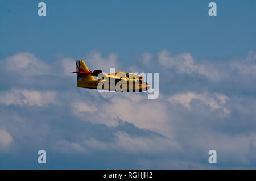
M92 71L88 69L83 60L76 60L77 81L94 81ZM82 73L79 73L82 72ZM88 74L87 74L88 73Z

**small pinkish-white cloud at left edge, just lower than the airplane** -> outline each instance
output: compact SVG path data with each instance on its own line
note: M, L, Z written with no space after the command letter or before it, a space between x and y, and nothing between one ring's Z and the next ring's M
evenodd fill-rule
M57 104L57 100L55 91L12 89L0 93L0 103L5 105L47 106L48 104Z

